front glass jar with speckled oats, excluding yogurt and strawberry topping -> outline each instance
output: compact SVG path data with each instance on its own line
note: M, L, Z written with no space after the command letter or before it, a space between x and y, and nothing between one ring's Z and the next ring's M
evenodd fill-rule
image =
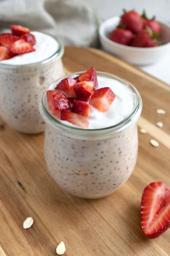
M136 122L142 110L140 94L132 84L109 73L97 72L97 75L116 79L134 92L132 113L114 126L81 129L64 125L47 111L46 91L39 103L46 123L44 153L51 176L69 193L91 199L113 193L133 172L138 153ZM47 90L54 89L59 81Z

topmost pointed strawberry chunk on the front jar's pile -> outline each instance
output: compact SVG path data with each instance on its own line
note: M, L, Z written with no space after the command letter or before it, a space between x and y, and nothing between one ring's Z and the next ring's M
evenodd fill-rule
M98 88L97 74L96 74L96 70L94 67L90 68L85 73L81 74L78 77L75 77L74 79L78 80L79 82L93 81L94 90L96 90Z

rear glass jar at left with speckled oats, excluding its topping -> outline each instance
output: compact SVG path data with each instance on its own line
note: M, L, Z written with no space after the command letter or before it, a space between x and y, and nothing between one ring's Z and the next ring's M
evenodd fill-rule
M34 134L44 131L39 99L50 83L65 75L61 60L64 47L57 42L57 51L43 61L26 65L0 62L0 115L19 132Z

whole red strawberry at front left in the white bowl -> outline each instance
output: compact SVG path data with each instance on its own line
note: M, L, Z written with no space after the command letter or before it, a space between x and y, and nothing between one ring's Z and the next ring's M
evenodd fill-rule
M133 33L128 29L116 28L109 35L109 39L122 45L129 45L133 39Z

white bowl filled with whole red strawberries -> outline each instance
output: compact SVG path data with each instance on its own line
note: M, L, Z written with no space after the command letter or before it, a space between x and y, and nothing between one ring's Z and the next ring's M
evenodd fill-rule
M103 49L135 65L149 65L170 51L170 27L135 10L105 20L99 27Z

